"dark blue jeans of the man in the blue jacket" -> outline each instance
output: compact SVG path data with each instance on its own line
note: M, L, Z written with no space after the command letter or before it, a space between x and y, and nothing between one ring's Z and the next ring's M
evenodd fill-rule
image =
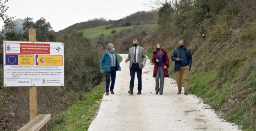
M106 92L109 92L110 76L111 76L110 91L113 91L115 86L115 81L116 81L116 69L111 68L110 72L105 72L105 73L106 73Z

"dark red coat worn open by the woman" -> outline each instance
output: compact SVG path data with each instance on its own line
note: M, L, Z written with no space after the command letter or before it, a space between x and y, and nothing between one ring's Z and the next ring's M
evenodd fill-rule
M153 57L152 57L152 62L155 64L155 67L154 67L154 72L153 72L153 77L156 77L156 72L157 72L157 69L158 69L158 62L156 62L156 51L153 52ZM162 56L162 67L163 67L163 70L164 70L164 74L165 74L165 77L168 77L169 74L168 74L168 71L167 69L164 69L164 66L169 67L169 57L168 57L168 54L165 50L163 50L163 56Z

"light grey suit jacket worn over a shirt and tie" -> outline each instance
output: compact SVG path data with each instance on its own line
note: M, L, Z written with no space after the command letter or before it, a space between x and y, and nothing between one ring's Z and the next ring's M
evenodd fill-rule
M129 54L127 57L127 60L130 60L130 66L129 68L131 68L132 62L133 62L133 58L134 58L134 48L135 47L131 47L129 49ZM146 63L146 55L145 55L145 50L144 48L138 46L138 65L140 67L140 69L143 69L143 65L141 64L142 62Z

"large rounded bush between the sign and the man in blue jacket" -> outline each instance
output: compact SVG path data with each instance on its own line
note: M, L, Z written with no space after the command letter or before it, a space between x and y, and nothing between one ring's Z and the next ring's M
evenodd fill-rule
M76 30L63 36L65 56L65 88L75 92L89 91L101 82L99 72L101 54L93 50L89 39Z

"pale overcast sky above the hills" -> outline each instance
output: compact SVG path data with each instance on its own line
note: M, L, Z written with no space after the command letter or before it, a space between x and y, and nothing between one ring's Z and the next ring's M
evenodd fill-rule
M149 11L147 0L9 0L6 14L35 22L44 17L55 32L89 19L118 20L138 11ZM2 21L0 21L2 27Z

